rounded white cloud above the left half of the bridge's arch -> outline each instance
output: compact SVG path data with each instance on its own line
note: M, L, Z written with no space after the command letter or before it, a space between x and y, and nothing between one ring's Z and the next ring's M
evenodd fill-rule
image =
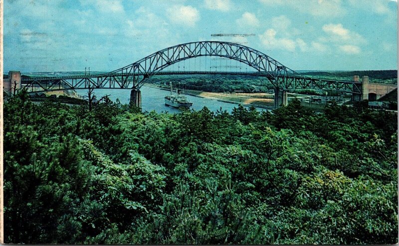
M174 5L166 10L169 19L178 24L194 26L200 19L197 8L192 6Z

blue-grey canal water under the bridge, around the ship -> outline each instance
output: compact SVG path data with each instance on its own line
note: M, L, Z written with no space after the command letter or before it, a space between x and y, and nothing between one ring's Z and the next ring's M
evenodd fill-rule
M180 110L168 107L165 105L165 96L169 95L169 91L161 90L159 88L143 86L141 87L141 97L142 97L142 110L143 111L155 111L157 113L170 112L179 113ZM79 94L84 95L83 90L78 91ZM115 102L117 99L122 104L129 104L130 101L130 90L121 89L95 89L94 94L97 98L101 98L105 95L110 95L109 98ZM187 95L187 99L193 103L191 109L196 111L201 110L203 107L208 108L210 111L215 112L216 110L226 110L231 113L234 107L238 104L230 104L219 102L216 99L210 98L200 98ZM258 111L264 111L264 109L257 108Z

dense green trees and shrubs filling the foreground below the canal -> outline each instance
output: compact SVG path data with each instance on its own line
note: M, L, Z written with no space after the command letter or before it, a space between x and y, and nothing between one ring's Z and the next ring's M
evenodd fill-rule
M4 105L6 243L395 244L397 115Z

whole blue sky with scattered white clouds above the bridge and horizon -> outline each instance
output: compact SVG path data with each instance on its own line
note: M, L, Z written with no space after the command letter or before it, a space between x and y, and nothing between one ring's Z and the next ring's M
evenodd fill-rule
M110 71L220 40L294 70L397 69L393 0L5 0L4 72ZM246 37L211 36L217 33Z

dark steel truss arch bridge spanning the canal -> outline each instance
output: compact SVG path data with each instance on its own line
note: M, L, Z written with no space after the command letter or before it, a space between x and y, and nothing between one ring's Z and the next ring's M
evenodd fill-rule
M295 89L326 89L352 94L362 94L362 84L355 81L335 81L303 76L268 55L250 47L221 41L199 41L175 45L149 56L146 56L130 65L109 73L62 76L45 78L28 78L21 80L21 86L35 88L35 91L112 88L133 89L140 87L157 74L167 74L162 71L166 67L186 59L200 56L218 56L237 60L254 68L257 76L266 77L278 91ZM175 72L181 74L182 72ZM183 72L194 74L195 71ZM207 73L207 72L197 72ZM212 72L208 72L212 73ZM223 72L214 72L223 73ZM227 72L229 73L229 72ZM230 72L238 74L237 72Z

